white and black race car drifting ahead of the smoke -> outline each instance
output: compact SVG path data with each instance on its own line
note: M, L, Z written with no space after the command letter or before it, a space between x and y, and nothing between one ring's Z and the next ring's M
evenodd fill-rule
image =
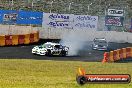
M47 56L52 55L66 56L68 54L68 50L69 50L68 47L62 46L59 43L47 42L42 45L35 46L32 49L32 53Z

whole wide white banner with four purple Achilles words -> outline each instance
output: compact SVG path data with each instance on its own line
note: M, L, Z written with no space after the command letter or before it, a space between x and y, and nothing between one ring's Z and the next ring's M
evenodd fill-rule
M98 16L43 13L44 28L97 30Z

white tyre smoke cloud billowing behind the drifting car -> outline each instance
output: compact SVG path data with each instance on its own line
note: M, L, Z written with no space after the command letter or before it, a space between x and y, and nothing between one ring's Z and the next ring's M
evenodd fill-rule
M86 42L89 45L88 41L93 39L93 34L88 34L87 30L69 30L62 36L60 43L69 47L68 55L78 55L80 50L85 49Z

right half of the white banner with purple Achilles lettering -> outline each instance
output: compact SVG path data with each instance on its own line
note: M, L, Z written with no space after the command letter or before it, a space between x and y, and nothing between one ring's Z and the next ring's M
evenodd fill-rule
M98 16L74 15L74 29L97 30Z

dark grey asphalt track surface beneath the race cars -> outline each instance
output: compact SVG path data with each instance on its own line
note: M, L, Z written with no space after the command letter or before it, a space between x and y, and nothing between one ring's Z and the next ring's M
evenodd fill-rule
M88 61L100 62L103 59L105 51L92 50L91 46L87 46L85 50L80 50L77 56L39 56L31 53L31 49L46 40L31 45L17 45L0 47L0 59L35 59L35 60L57 60L57 61ZM125 47L132 47L129 43L109 43L109 50L115 50ZM129 60L129 59L128 59ZM131 59L132 62L132 59Z

